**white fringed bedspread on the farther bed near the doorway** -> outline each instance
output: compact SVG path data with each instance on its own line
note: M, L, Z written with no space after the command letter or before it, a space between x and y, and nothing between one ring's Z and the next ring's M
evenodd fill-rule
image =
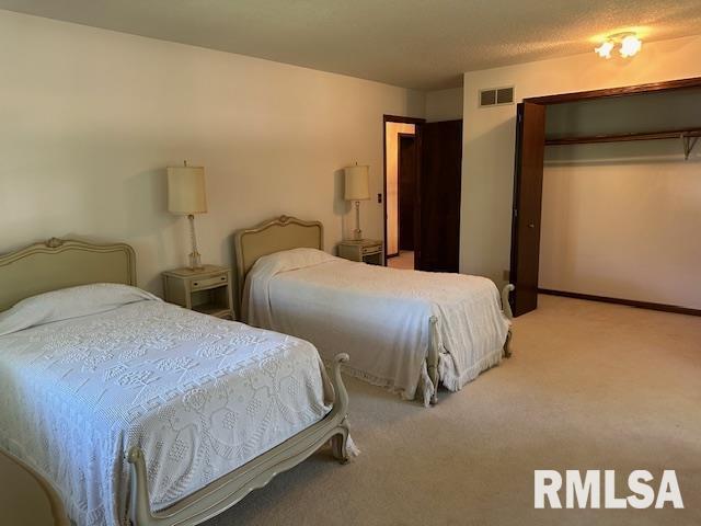
M309 340L324 359L348 353L346 370L405 399L422 385L425 403L437 387L425 370L432 338L444 385L459 390L501 361L509 329L490 279L367 265L313 249L261 258L246 278L243 312L252 325Z

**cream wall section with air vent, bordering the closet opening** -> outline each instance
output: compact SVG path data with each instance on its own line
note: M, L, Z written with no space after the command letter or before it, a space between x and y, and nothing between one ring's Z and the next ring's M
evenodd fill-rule
M516 99L701 77L701 36L646 43L631 60L594 52L464 73L460 271L503 283L509 267L516 106L479 108L480 89Z

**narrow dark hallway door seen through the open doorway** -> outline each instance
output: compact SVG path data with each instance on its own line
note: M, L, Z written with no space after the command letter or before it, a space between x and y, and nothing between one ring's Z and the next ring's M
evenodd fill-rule
M414 213L416 201L416 140L414 135L399 134L399 249L414 250Z

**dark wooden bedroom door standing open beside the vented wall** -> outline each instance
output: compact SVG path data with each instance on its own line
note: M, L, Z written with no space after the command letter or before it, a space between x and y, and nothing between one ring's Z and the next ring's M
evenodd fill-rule
M458 272L462 121L426 123L421 128L421 247L415 251L416 268Z

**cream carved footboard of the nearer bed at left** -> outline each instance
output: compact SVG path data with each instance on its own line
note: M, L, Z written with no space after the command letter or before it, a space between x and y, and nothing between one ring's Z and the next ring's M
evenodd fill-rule
M166 510L158 513L151 511L143 451L138 447L129 449L127 460L130 465L130 494L127 516L131 525L194 526L203 523L233 506L251 491L263 488L277 473L294 468L330 439L334 457L346 462L348 393L341 378L341 364L345 362L348 362L347 354L334 357L331 381L335 399L333 409L323 420Z

